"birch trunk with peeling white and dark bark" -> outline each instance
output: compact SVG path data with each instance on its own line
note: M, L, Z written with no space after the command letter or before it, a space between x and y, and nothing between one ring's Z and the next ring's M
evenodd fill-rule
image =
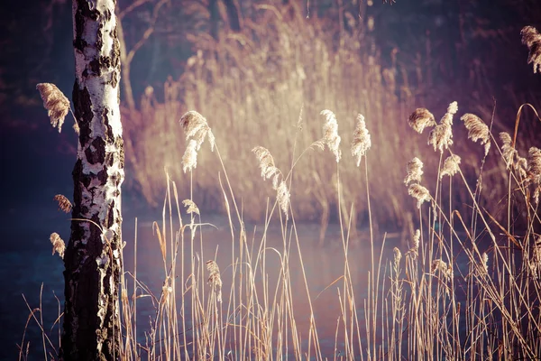
M113 360L120 354L121 184L124 142L119 108L120 51L115 0L72 0L78 119L74 208L64 257L61 358ZM81 220L82 219L82 220Z

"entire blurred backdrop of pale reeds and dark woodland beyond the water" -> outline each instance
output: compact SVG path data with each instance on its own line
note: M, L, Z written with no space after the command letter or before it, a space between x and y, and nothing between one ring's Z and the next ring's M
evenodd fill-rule
M50 143L40 143L48 122L39 120L44 116L35 84L52 82L70 95L71 6L67 0L3 6L2 142L7 149L12 138L7 134L24 133L37 144L39 157ZM439 119L456 100L455 123L463 113L474 113L489 124L496 105L492 131L497 134L513 126L520 104L538 108L541 98L541 82L531 74L527 48L520 44L520 29L539 25L536 0L397 0L393 5L379 0L119 0L118 14L126 182L151 207L163 199L167 167L181 192L188 192L193 181L200 208L223 210L218 161L210 150L200 153L193 180L181 170L186 143L178 121L185 111L206 116L244 216L261 219L272 190L259 179L252 147L267 147L277 166L289 170L292 158L321 137L319 112L328 108L338 118L344 153L356 114L366 117L375 224L408 227L417 211L403 186L406 163L419 157L427 183L434 184L429 180L439 162L438 154L427 152L427 134L408 129L408 115L416 107L426 106ZM303 128L294 149L301 108ZM541 134L533 115L523 116L522 152ZM465 132L456 133L459 128L454 127L454 153L463 158L474 186L482 149L466 142ZM75 151L75 135L65 131L54 152ZM502 164L487 168L483 186L488 191L481 201L497 214L507 194L506 173ZM336 183L334 174L328 153L310 153L298 163L292 186L297 218L325 225L336 217L335 189L322 187ZM344 210L353 202L353 220L362 225L367 221L365 186L350 157L341 162L341 177ZM454 201L464 197L454 194Z

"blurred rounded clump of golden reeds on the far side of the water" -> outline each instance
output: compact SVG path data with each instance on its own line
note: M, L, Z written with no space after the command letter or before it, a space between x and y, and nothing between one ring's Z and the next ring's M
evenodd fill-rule
M179 187L188 191L188 176L179 167L185 143L171 118L197 109L206 116L216 116L213 129L218 136L223 135L222 156L234 169L230 176L237 194L243 197L244 214L261 219L264 209L255 197L261 187L253 181L257 170L246 166L252 163L252 147L266 143L276 163L283 166L292 158L294 143L297 149L304 149L320 136L321 125L314 119L322 108L335 110L348 125L353 125L361 112L371 119L374 143L369 158L371 198L386 199L376 202L372 209L372 217L377 220L374 224L396 228L407 225L406 213L412 208L401 191L401 164L408 162L407 154L419 153L424 141L406 136L408 125L401 119L410 109L425 103L426 97L408 81L397 83L400 70L396 62L388 68L380 65L381 55L373 46L368 28L358 24L351 32L341 31L335 20L314 16L307 21L304 9L295 2L278 3L246 3L242 32L221 32L218 40L204 33L188 34L197 44L196 54L188 59L180 79L169 79L164 94L148 88L139 109L124 109L125 131L129 134L126 156L136 185L147 200L158 203L165 184L161 171L165 163L171 177L179 180ZM355 22L355 17L351 21ZM417 70L419 79L412 79L416 84L422 83L422 65ZM295 136L290 120L302 105L308 121ZM350 143L353 134L348 132L343 137ZM331 155L323 156L331 159ZM221 191L211 171L220 164L207 151L199 157L208 168L199 170L193 180L195 190L205 190L196 192L197 203L201 208L223 210ZM436 165L437 158L425 162ZM335 214L332 209L338 204L335 169L332 162L316 162L313 157L299 162L296 168L294 181L307 191L298 194L293 207L303 220L321 222L323 237L329 218ZM472 173L472 169L467 172ZM353 229L357 219L368 224L365 195L358 191L353 159L344 159L340 175L341 195L355 205ZM271 196L271 191L267 195ZM342 211L348 220L350 212L345 204Z

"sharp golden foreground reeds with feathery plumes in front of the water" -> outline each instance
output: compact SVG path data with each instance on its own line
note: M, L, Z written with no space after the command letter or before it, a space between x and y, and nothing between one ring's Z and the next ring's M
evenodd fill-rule
M481 144L476 144L480 176L477 182L469 181L462 170L461 154L454 153L452 144L467 141L453 135L454 129L462 126L455 124L461 122L454 119L457 113L454 102L440 122L428 122L428 126L433 126L428 138L434 147L426 145L425 153L434 148L440 157L436 182L426 183L426 166L419 158L403 172L403 192L417 199L419 212L408 247L386 245L389 241L385 236L380 242L373 232L360 245L371 254L370 271L362 275L367 280L365 290L359 290L358 283L353 282L356 275L351 267L355 260L349 255L353 225L351 218L344 221L341 206L346 199L340 196L342 162L349 157L342 152L347 145L340 134L353 133L353 127L345 130L347 125L342 126L334 113L322 112L325 117L320 117L320 124L324 132L310 147L292 152L289 171L277 168L267 149L254 150L252 167L257 169L260 162L261 187L267 186L276 193L268 199L259 197L260 204L266 204L265 218L262 232L252 233L246 229L243 209L237 204L235 184L220 153L219 134L215 138L212 124L196 112L183 116L181 124L187 140L196 142L195 149L203 152L204 141L209 139L221 164L217 181L228 218L231 254L226 255L219 248L210 255L204 251L204 229L211 225L203 222L193 199L194 176L207 165L185 154L182 165L190 176L190 191L179 192L177 183L166 172L162 219L152 226L163 267L160 292L151 292L152 287L138 280L136 249L133 272L123 273L121 359L503 360L540 355L541 222L536 197L541 187L541 153L535 147L527 154L518 153L513 141L518 129L513 136L494 137L490 125L466 114L461 119L469 137L481 140ZM416 126L416 122L423 121L419 115L426 114L426 109L417 109L410 117L417 131L422 132ZM359 162L358 184L366 185L370 209L371 122L364 122L362 116L357 121L352 153L364 160ZM304 125L302 119L297 125L299 134ZM426 133L418 136L425 137ZM332 153L330 160L326 159L324 148ZM487 152L489 148L491 152ZM187 153L192 151L188 146ZM307 282L303 264L306 247L314 245L299 242L297 211L292 206L298 194L302 194L294 180L297 166L303 158L314 155L311 153L316 153L315 162L333 164L338 182L335 191L344 272L323 291L335 290L339 305L334 353L329 352L329 347L322 347L328 340L319 335L329 325L318 322L321 315L314 307L318 295ZM500 224L479 202L485 171L482 164L487 157L499 158L508 169L509 197L502 203L508 224ZM267 178L272 181L265 182ZM280 205L284 201L280 200L284 197L284 191L280 191L282 183L287 187L285 207ZM445 187L450 192L462 188L470 196L472 217L464 218L454 208L454 199L444 203ZM514 213L513 202L523 205L520 214ZM351 203L347 205L353 208ZM522 217L525 220L521 224L527 227L515 227L515 220ZM280 224L281 245L269 243L273 219ZM276 257L279 261L271 262ZM294 259L300 264L298 269L291 266ZM300 274L300 285L293 285L293 272ZM298 301L299 293L304 301ZM142 337L137 310L144 298L151 300L154 316ZM307 323L298 322L303 317L308 318ZM36 321L44 329L42 321ZM52 345L49 337L47 341ZM24 343L22 350L23 346Z

